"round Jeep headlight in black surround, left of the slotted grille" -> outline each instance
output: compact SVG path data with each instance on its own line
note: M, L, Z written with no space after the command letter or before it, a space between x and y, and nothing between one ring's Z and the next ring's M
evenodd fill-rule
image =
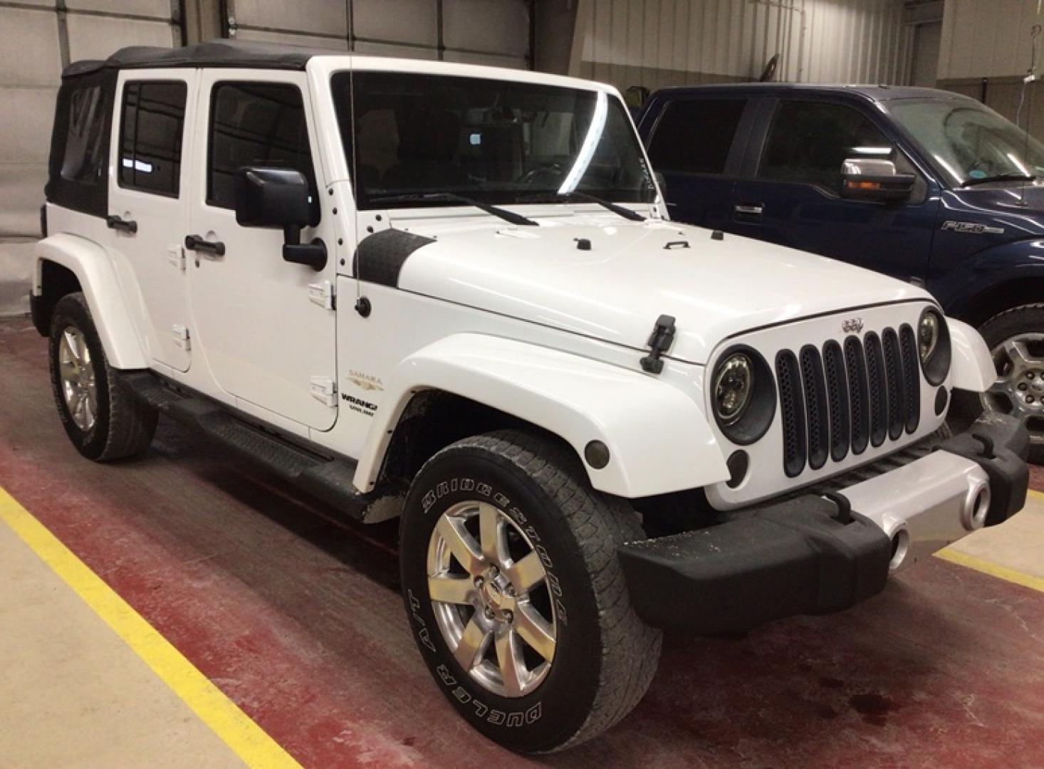
M776 413L776 381L758 351L745 344L725 351L710 383L714 419L729 440L748 446L765 434Z

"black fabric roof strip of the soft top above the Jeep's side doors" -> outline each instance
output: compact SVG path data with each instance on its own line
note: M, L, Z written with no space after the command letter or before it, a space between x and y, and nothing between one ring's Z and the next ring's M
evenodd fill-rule
M276 43L239 40L213 40L184 48L130 46L121 48L105 59L73 62L63 77L76 77L101 69L151 69L157 67L246 67L269 70L303 70L312 56L334 51L299 48ZM347 54L347 51L346 51Z

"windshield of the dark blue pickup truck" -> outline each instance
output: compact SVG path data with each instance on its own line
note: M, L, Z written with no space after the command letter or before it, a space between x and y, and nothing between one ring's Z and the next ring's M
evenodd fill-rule
M978 102L894 99L885 107L952 186L1044 176L1044 145Z

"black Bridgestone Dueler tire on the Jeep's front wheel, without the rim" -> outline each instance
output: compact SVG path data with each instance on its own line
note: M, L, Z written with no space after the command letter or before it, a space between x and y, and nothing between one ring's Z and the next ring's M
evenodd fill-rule
M431 532L445 510L476 494L546 549L548 584L553 578L561 587L553 662L539 687L521 697L493 694L469 676L429 599ZM483 735L520 752L560 750L608 729L642 698L659 663L661 633L632 608L616 548L644 533L630 504L590 486L568 447L514 430L459 440L421 468L400 526L403 598L414 640L443 694Z

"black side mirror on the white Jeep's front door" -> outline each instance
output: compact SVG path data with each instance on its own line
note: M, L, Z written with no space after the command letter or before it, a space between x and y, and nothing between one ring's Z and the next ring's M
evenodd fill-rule
M326 267L326 245L316 238L301 242L302 227L318 223L305 175L292 168L236 171L236 222L247 227L282 227L283 259L315 270Z

